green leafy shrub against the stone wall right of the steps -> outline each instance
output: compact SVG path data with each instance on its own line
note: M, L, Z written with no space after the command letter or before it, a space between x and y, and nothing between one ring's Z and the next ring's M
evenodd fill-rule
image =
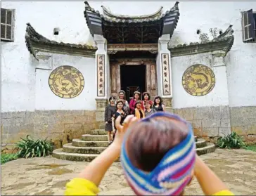
M243 148L245 143L236 132L232 132L227 136L218 138L217 146L219 148Z

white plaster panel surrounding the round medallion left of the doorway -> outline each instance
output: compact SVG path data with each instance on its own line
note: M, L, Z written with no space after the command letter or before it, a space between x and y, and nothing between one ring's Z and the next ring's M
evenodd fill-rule
M84 89L75 98L60 98L49 88L49 76L53 70L36 71L35 110L95 110L96 67L95 58L53 54L53 70L62 65L77 68L84 77Z

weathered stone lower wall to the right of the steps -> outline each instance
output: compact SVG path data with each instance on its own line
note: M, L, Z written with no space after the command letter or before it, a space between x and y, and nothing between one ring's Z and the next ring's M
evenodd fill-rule
M191 122L194 134L216 142L218 136L236 131L246 142L256 141L256 107L187 107L172 109Z

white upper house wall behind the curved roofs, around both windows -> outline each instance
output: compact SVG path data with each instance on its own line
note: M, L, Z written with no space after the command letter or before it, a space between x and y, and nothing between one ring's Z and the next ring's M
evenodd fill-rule
M160 6L166 11L174 6L174 1L90 1L89 4L100 12L101 5L104 5L116 14L141 15L154 13ZM84 19L84 3L4 1L1 7L15 9L15 41L1 41L1 111L34 110L35 71L32 57L25 46L26 23L30 22L37 32L49 39L74 44L95 44ZM256 105L256 44L244 44L241 35L241 11L250 8L256 11L255 1L181 1L181 15L171 39L171 44L175 45L199 41L197 29L203 32L211 27L226 30L229 24L233 25L235 42L226 58L229 105L232 107ZM54 27L60 28L57 37L53 35Z

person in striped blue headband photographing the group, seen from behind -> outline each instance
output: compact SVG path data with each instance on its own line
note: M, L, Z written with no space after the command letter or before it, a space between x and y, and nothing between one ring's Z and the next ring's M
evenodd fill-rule
M123 125L120 122L117 117L113 144L67 183L65 195L97 195L105 172L120 154L136 195L184 195L193 176L205 195L233 195L196 155L192 126L184 119L156 112L141 120L129 115Z

